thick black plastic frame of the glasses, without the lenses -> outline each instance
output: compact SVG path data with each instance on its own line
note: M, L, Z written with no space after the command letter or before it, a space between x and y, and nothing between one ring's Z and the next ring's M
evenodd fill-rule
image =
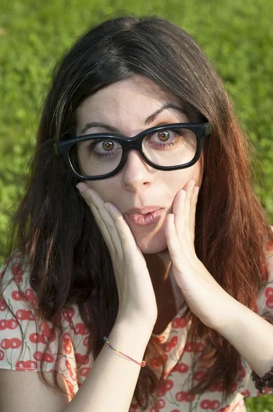
M182 165L176 165L176 166L160 166L160 165L156 165L155 163L150 161L150 159L148 159L145 156L145 153L142 150L142 141L144 137L156 131L168 130L168 128L169 129L187 128L195 134L196 151L191 161L184 163ZM200 158L200 154L202 150L202 138L209 137L210 134L211 134L211 124L209 122L206 122L206 123L171 123L171 124L163 124L160 126L154 126L154 127L148 128L133 137L125 137L123 135L112 135L109 133L93 133L91 135L82 135L82 136L74 137L73 139L67 139L64 141L60 141L58 143L54 143L54 151L56 155L64 157L64 160L66 161L69 170L72 172L72 174L75 177L77 177L78 179L82 181L95 181L95 180L108 179L108 177L115 176L115 174L117 174L125 165L129 150L137 150L140 153L142 159L145 161L145 163L152 166L152 168L156 170L166 170L167 171L167 170L178 170L178 169L189 168L192 165L194 165ZM90 139L95 139L95 138L112 139L112 140L119 142L122 148L121 160L119 162L119 165L117 165L117 168L112 170L112 172L109 172L107 174L102 174L99 176L98 175L97 176L82 176L81 174L75 171L73 164L71 163L71 159L69 155L70 149L74 144L79 143L80 141L85 141L85 140L90 140Z

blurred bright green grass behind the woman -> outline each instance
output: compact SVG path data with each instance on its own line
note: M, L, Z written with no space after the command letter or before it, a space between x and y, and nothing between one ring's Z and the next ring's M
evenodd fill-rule
M272 0L2 0L0 5L0 264L24 190L50 72L87 27L130 12L157 14L189 32L215 65L257 150L254 189L273 225ZM246 400L273 411L271 395Z

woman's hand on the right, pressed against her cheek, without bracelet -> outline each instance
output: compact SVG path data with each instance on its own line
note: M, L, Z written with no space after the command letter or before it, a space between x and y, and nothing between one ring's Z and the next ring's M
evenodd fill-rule
M167 215L165 236L174 278L191 311L209 328L228 327L236 300L219 286L194 249L198 187L192 179L176 194L173 213Z

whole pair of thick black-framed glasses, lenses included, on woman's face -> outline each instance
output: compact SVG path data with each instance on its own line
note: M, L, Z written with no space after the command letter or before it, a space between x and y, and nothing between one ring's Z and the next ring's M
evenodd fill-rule
M210 123L175 123L148 128L134 137L95 133L54 144L69 170L82 181L107 179L125 165L129 150L157 170L189 168L200 158L202 138L211 134Z

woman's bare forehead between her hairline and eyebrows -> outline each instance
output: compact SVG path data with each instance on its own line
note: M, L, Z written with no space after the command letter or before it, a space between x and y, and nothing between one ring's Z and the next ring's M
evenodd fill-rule
M177 96L166 93L151 80L135 76L111 84L86 99L76 113L78 126L80 128L85 122L95 119L110 122L117 128L131 122L134 128L134 125L143 125L149 115L167 103L183 107L182 100ZM181 115L178 121L182 121Z

